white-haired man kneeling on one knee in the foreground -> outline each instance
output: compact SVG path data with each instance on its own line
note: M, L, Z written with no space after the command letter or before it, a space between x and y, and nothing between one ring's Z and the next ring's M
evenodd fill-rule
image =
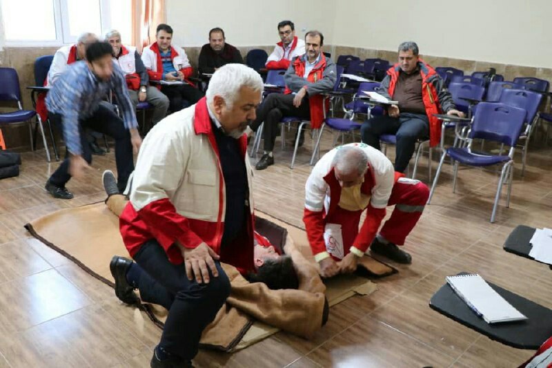
M255 70L223 66L206 97L161 120L141 146L120 217L124 243L139 267L124 258L110 267L119 298L137 288L169 310L152 367L190 365L201 332L230 293L219 262L254 270L244 131L263 87ZM143 272L157 283L141 284Z

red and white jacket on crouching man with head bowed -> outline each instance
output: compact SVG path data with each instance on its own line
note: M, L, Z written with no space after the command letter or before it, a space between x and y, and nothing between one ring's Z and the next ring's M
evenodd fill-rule
M360 192L371 195L371 200L367 207L366 220L364 220L355 241L351 244L351 248L348 249L355 254L364 254L374 240L377 229L380 228L385 217L385 208L396 181L395 169L391 161L381 151L367 144L351 143L345 146L362 148L368 155L368 171L364 176ZM317 262L330 256L324 242L325 219L337 209L341 198L341 186L333 170L333 157L340 147L334 148L319 159L305 185L303 222L308 242L311 244L311 250ZM344 245L349 246L350 244Z

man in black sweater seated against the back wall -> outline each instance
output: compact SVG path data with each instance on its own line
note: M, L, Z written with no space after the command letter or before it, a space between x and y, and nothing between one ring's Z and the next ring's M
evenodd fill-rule
M237 48L226 43L224 30L213 28L209 31L209 43L199 52L199 72L213 74L226 64L244 64L244 59Z

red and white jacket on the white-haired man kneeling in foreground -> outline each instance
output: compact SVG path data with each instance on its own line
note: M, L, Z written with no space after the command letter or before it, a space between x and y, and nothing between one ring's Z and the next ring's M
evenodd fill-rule
M245 135L239 145L251 211L245 234L221 248L226 188L205 97L150 130L138 155L130 202L119 218L130 256L144 242L155 239L170 262L181 264L184 260L176 242L190 249L205 242L221 256L221 262L253 271L253 184Z

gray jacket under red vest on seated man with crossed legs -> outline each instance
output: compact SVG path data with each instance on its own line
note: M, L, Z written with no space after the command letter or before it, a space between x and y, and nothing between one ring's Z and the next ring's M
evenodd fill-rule
M298 57L302 58L302 61L306 63L306 54ZM324 68L324 72L322 72L322 79L319 79L315 83L307 81L302 75L295 74L295 59L297 59L297 57L291 60L288 70L286 70L286 74L284 75L286 86L292 92L298 92L304 86L307 86L306 91L309 96L319 95L320 93L333 90L335 80L337 79L337 70L332 59L326 57L326 68Z

